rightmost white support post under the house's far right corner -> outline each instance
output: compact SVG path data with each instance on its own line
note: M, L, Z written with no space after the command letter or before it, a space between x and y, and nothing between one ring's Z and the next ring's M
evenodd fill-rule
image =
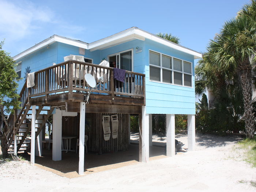
M195 115L188 114L188 151L195 150L196 133L195 133Z

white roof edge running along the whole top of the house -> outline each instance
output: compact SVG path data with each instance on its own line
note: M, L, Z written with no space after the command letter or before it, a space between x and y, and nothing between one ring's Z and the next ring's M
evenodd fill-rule
M98 41L94 41L89 44L86 42L79 41L79 40L61 37L59 35L53 35L53 36L45 39L44 41L34 45L33 47L23 51L22 53L17 54L16 56L13 57L13 59L14 60L21 59L22 57L25 57L26 55L31 54L31 53L37 51L38 49L48 46L54 42L61 42L61 43L74 45L74 46L84 48L84 49L90 49L90 51L94 51L94 50L106 49L106 48L109 48L109 47L112 47L115 45L122 44L124 42L132 41L134 39L140 39L140 40L144 41L146 38L150 39L152 41L158 42L160 44L169 46L170 48L180 50L184 53L191 54L194 56L194 59L199 59L202 57L201 53L196 52L192 49L189 49L189 48L186 48L179 44L170 42L166 39L158 37L157 35L143 31L143 30L139 29L138 27L131 27L127 30L121 31L119 33L116 33L114 35L111 35L111 36L103 38L103 39L99 39Z

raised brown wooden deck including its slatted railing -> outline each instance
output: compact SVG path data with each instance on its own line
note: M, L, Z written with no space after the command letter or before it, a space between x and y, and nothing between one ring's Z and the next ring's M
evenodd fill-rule
M144 74L126 71L123 83L114 79L112 67L69 60L35 72L35 86L27 88L25 83L20 93L21 106L28 102L37 106L63 106L67 111L78 112L78 102L84 102L89 93L86 73L93 75L98 84L90 94L89 109L91 104L94 104L91 108L102 104L145 105Z

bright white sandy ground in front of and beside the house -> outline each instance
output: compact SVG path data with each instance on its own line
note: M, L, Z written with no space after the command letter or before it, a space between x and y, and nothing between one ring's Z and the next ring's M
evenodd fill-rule
M165 144L165 138L153 138ZM176 139L186 147L187 136ZM0 191L256 191L256 168L242 161L238 140L197 135L193 152L78 178L61 177L27 161L0 163Z

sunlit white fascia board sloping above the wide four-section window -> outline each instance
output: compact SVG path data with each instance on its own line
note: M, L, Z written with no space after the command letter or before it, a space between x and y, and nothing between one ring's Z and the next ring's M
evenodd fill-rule
M159 43L161 43L163 45L166 45L166 46L169 46L169 47L171 47L173 49L180 50L182 52L191 54L191 55L194 56L194 59L202 58L202 54L201 53L198 53L198 52L195 52L195 51L193 51L191 49L188 49L188 48L182 47L180 45L174 44L172 42L169 42L169 41L167 41L165 39L162 39L160 37L157 37L157 36L155 36L153 34L147 33L147 32L142 31L140 29L135 29L135 34L138 34L138 35L140 35L142 37L145 37L147 39L150 39L152 41L159 42Z

